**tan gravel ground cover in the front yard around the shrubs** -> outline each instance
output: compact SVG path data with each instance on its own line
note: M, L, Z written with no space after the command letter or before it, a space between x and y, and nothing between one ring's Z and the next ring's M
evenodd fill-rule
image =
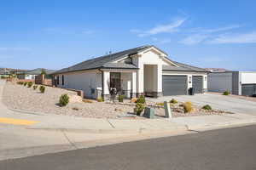
M144 118L133 114L134 104L131 104L130 100L125 100L124 103L97 102L96 100L89 100L90 103L77 101L70 102L65 107L60 107L58 102L61 94L76 95L73 91L52 87L46 87L45 93L41 94L38 89L33 90L22 85L6 83L3 89L3 103L13 109L67 116L121 119ZM147 104L155 105L153 102L148 102ZM223 111L203 111L196 106L194 106L193 112L183 113L182 107L179 105L180 103L172 106L173 116L221 115L225 113ZM156 118L165 116L162 106L156 106L154 109Z

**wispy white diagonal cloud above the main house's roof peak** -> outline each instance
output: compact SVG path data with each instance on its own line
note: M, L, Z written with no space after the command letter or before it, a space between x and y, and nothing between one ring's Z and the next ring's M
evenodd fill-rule
M137 29L132 29L130 30L131 32L138 33L138 37L146 37L150 35L156 35L160 33L170 33L174 31L178 31L178 27L183 25L183 22L186 19L176 19L172 23L167 24L167 25L160 25L160 26L155 26L148 31L139 31Z

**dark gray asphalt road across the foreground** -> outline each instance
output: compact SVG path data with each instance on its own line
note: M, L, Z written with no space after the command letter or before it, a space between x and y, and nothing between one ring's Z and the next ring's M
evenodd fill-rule
M0 161L1 170L256 169L256 126Z

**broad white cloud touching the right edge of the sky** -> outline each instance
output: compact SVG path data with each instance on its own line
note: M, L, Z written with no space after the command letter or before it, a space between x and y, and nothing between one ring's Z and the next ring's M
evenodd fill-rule
M256 43L256 31L243 34L220 35L208 43Z

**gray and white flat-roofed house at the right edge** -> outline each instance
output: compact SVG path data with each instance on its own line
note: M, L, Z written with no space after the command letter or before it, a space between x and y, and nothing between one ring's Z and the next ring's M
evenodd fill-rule
M256 71L225 71L209 73L208 91L252 96L256 93Z

